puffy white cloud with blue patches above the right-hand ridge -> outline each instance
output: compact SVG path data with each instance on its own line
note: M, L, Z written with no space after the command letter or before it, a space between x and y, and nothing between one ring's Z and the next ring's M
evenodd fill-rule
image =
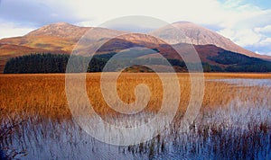
M266 45L266 39L271 36L271 9L263 10L242 0L227 1L225 7L229 7L230 16L220 24L223 27L218 31L220 34L246 49L262 54L271 52Z

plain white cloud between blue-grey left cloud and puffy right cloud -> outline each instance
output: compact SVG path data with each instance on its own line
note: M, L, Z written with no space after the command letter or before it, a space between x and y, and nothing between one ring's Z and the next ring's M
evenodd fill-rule
M198 23L221 22L221 16L226 15L221 11L217 0L59 0L42 1L53 6L70 8L76 17L85 19L84 22L98 25L101 22L126 15L148 15L167 22L192 21ZM215 13L215 14L214 14ZM214 16L215 15L215 16Z

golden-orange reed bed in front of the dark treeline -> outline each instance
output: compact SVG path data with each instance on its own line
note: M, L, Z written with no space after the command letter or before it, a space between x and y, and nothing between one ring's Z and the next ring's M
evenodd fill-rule
M190 76L178 74L181 88L180 111L185 111L191 93ZM270 74L205 74L205 90L201 110L211 110L226 106L240 93L244 99L253 101L251 95L258 93L257 100L266 98L265 87L234 87L223 82L209 81L217 78L271 78ZM87 92L95 111L100 115L115 114L109 108L100 91L100 73L87 74ZM147 84L151 90L151 99L145 111L159 111L163 99L163 88L156 74L123 73L117 79L117 93L122 101L135 101L135 86ZM269 92L266 90L265 92ZM0 111L1 118L11 114L38 114L52 119L70 119L70 109L65 93L64 74L37 75L0 75Z

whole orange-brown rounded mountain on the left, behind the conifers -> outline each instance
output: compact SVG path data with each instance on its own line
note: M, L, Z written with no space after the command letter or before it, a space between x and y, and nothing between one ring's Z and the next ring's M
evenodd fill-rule
M78 40L91 27L79 27L67 22L45 25L31 31L22 37L5 38L0 40L0 73L9 58L28 55L31 53L65 53L70 54ZM111 35L117 31L95 28L97 34ZM116 33L115 33L116 34Z

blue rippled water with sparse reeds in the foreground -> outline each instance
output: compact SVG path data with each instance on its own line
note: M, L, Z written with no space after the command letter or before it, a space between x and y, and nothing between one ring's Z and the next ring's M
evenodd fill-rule
M211 81L271 86L270 79ZM0 147L8 158L19 159L271 159L270 117L268 98L245 101L236 97L227 107L201 111L188 131L182 130L182 116L177 115L171 126L152 140L118 147L91 138L72 120L25 116L12 134L1 139ZM107 117L109 122L115 119ZM134 123L138 122L142 117ZM14 120L3 120L1 126L11 123Z

